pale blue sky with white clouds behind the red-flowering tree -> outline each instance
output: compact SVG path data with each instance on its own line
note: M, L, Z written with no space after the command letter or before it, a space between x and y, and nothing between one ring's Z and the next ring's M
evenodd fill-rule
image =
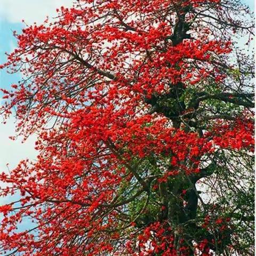
M0 63L5 62L5 52L11 52L16 45L13 37L13 30L20 31L23 27L21 22L25 19L26 23L43 22L46 15L54 17L57 7L70 6L72 0L1 0L0 6ZM254 0L247 0L247 5L254 9ZM17 83L20 79L19 74L10 75L6 71L0 73L1 88L8 89L11 84ZM1 98L0 98L1 100ZM1 101L0 101L1 102ZM6 164L13 169L21 159L36 157L34 150L35 137L29 138L25 143L21 139L12 141L9 136L14 135L14 118L10 118L6 125L0 123L0 172L7 171ZM1 186L1 182L0 182ZM10 198L0 198L0 204L7 203ZM26 223L23 228L26 227Z

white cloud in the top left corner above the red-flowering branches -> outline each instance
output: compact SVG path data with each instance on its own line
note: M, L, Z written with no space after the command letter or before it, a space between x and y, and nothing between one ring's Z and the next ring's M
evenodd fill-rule
M25 20L28 25L55 17L60 6L70 7L74 0L0 0L0 15L11 23Z

